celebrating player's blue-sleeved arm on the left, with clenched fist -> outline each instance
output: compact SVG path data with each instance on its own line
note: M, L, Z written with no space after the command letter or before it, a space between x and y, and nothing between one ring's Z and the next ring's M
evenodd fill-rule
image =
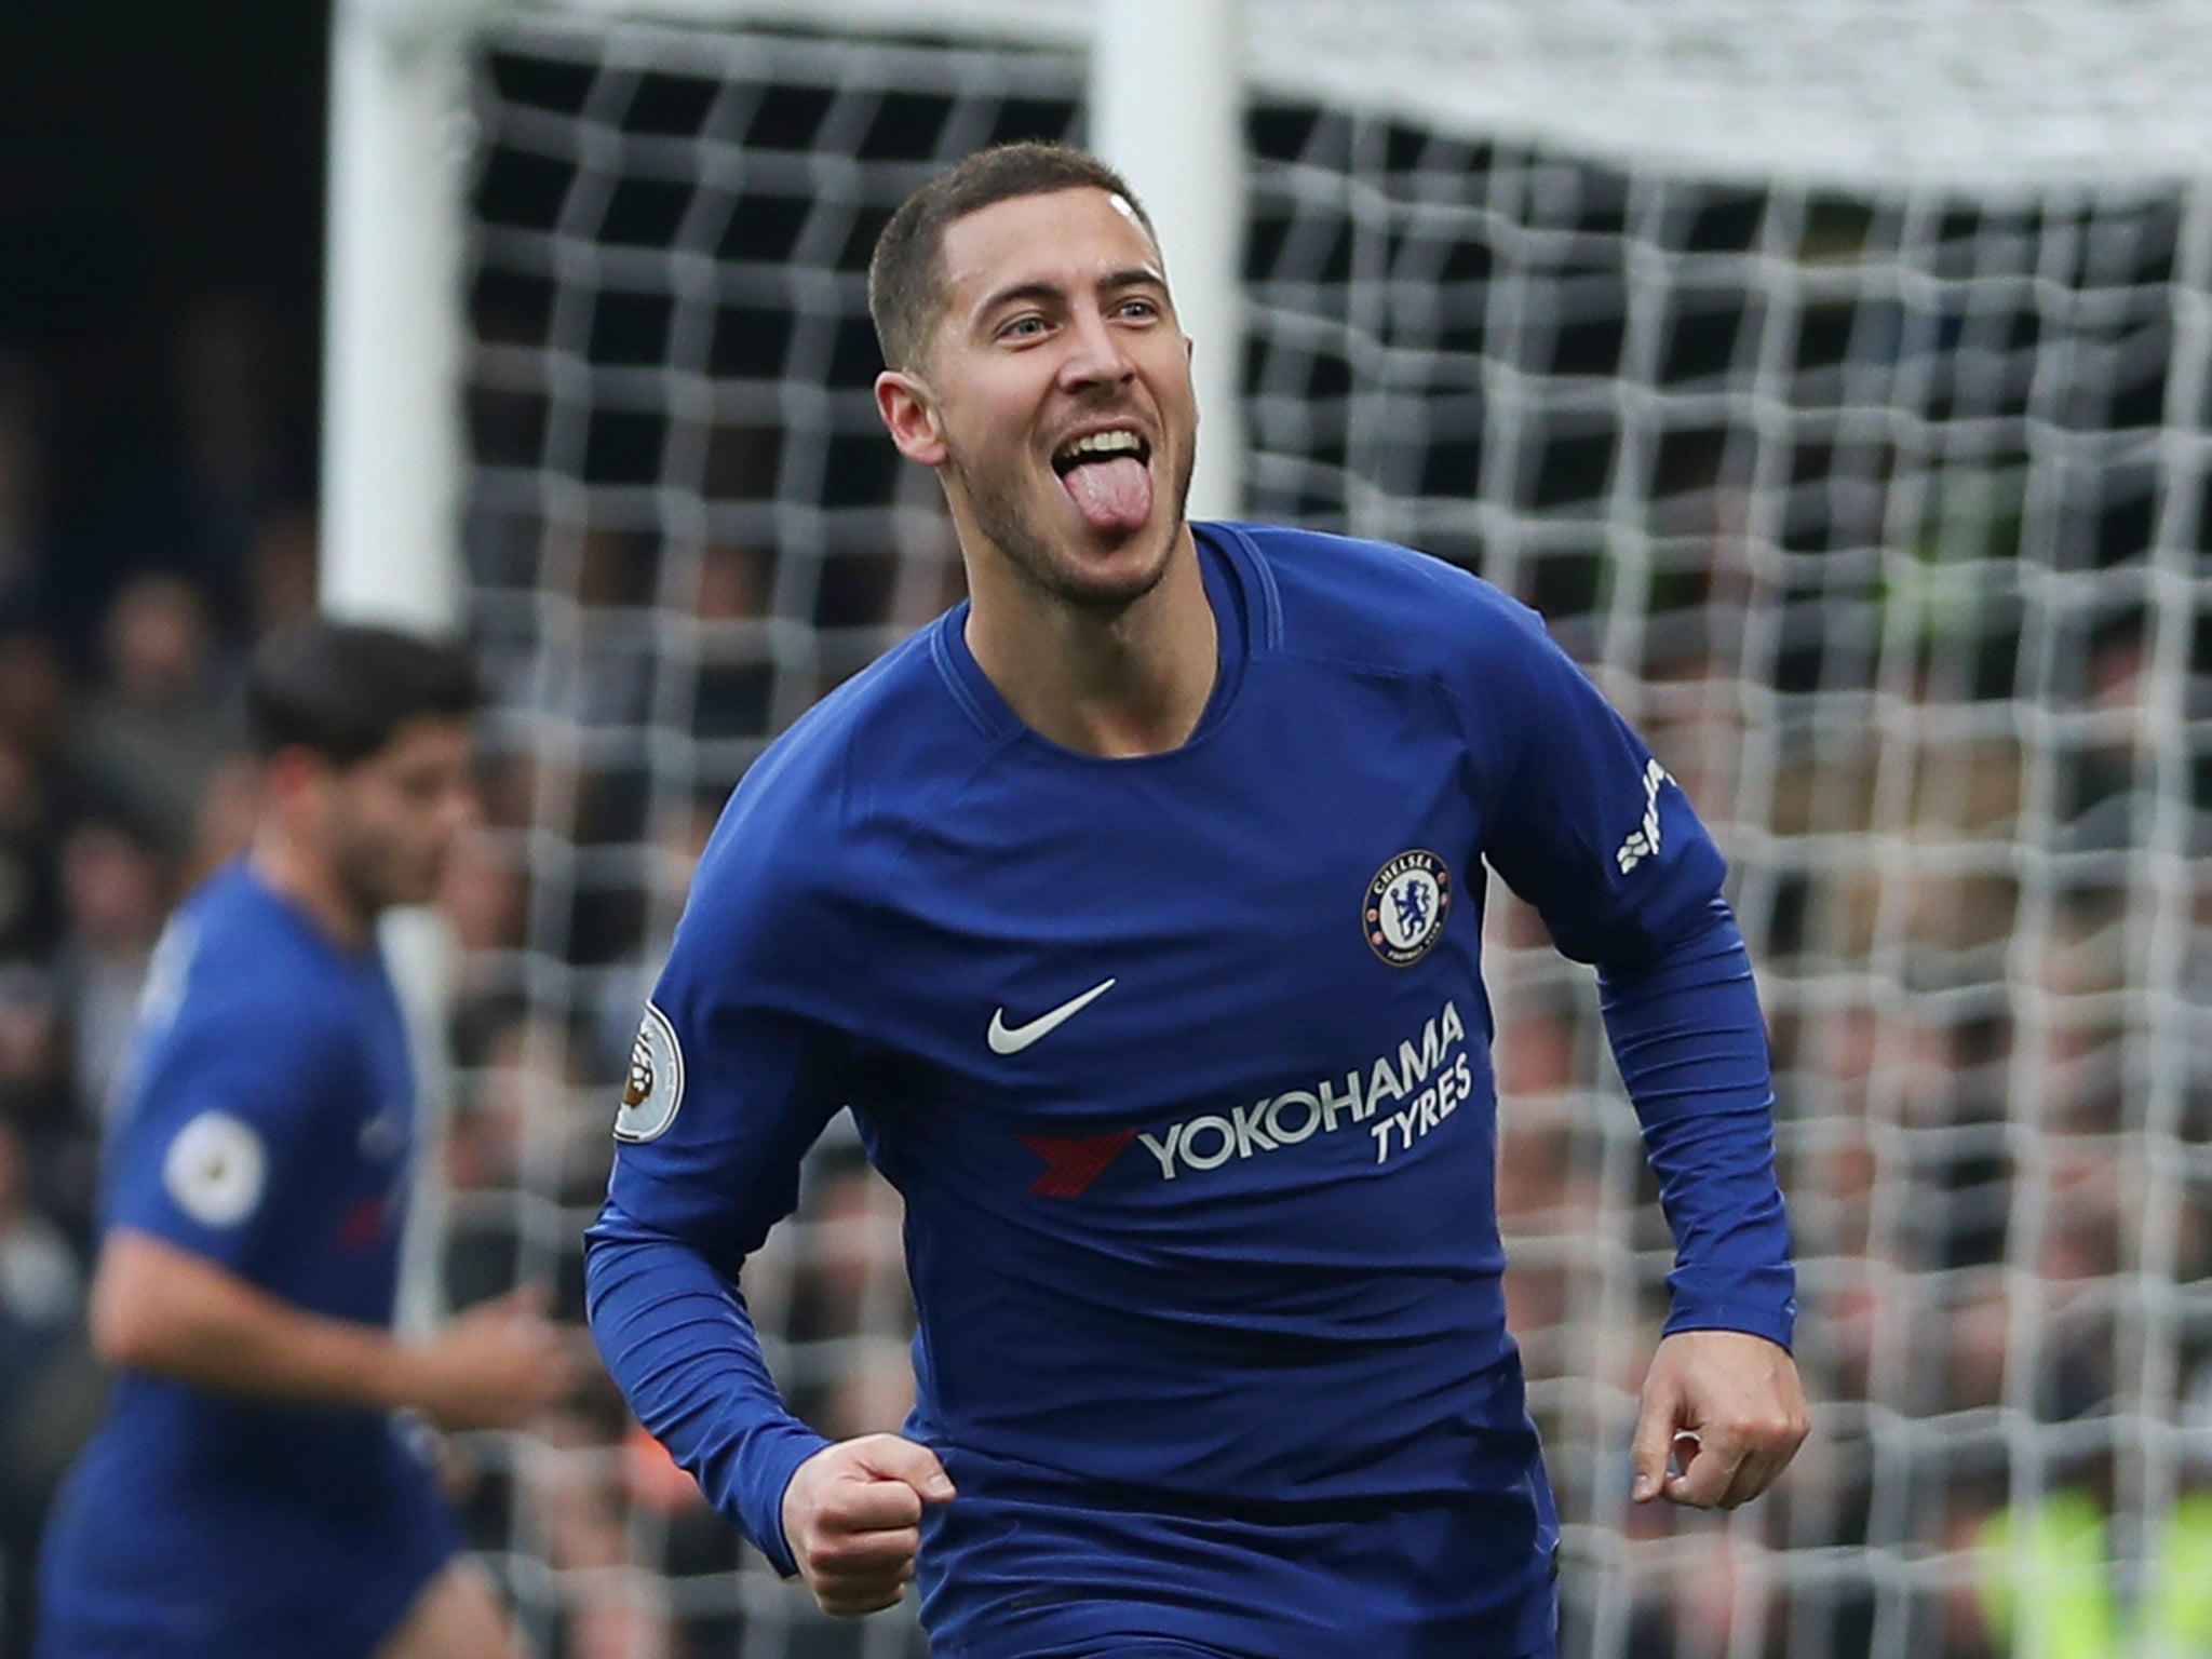
M763 931L695 894L586 1234L586 1310L630 1409L708 1502L781 1573L805 1577L825 1610L874 1613L900 1599L922 1504L951 1498L951 1482L927 1447L832 1444L794 1418L739 1292L745 1256L792 1212L799 1164L845 1097L834 1033L745 1000L748 969L770 971L748 962ZM781 929L792 936L807 933Z

